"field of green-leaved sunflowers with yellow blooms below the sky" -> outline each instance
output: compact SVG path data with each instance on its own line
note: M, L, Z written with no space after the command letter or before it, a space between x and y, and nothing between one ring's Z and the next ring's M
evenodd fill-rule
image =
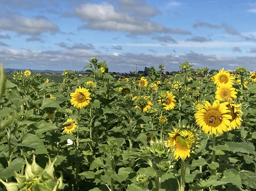
M0 190L256 190L256 72L88 63L63 83L1 66Z

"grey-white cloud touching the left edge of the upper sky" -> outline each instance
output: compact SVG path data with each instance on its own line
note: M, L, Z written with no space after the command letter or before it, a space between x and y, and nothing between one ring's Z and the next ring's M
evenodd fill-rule
M44 18L27 18L22 15L11 15L0 18L0 28L19 34L40 35L41 33L56 33L59 27Z

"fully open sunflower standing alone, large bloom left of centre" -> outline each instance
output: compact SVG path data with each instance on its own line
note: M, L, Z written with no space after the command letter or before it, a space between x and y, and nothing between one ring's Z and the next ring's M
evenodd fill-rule
M83 107L86 107L90 103L90 95L89 89L81 88L76 88L76 91L74 93L70 93L71 99L71 105L76 107L77 109L81 109Z

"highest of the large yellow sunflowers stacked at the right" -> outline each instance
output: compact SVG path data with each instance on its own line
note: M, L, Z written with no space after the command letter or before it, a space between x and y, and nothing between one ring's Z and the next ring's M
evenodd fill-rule
M213 84L217 86L222 86L223 84L227 84L230 87L234 84L234 77L230 75L229 71L224 71L224 68L219 71L215 76L213 76Z

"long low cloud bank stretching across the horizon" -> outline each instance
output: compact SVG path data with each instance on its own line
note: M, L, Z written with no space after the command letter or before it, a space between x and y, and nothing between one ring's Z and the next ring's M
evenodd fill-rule
M256 51L256 49L255 49ZM154 55L143 53L113 53L103 54L86 49L65 49L58 51L31 51L24 49L1 49L0 60L6 67L30 68L30 69L82 69L86 60L91 57L106 60L109 71L128 72L136 69L143 70L145 66L158 67L161 63L165 65L167 71L179 70L179 65L183 62L196 64L197 67L208 66L210 69L221 69L224 65L226 69L234 69L245 63L249 70L255 69L256 56L218 56L204 55L199 53L185 53L184 55L167 54ZM17 65L17 62L19 65ZM145 64L146 63L146 64ZM59 67L61 65L61 68Z

